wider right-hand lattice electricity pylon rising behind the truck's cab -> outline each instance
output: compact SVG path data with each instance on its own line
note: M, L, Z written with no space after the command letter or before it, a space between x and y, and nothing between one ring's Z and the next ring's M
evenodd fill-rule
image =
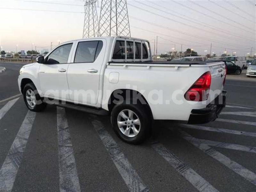
M98 36L131 36L126 0L101 0Z

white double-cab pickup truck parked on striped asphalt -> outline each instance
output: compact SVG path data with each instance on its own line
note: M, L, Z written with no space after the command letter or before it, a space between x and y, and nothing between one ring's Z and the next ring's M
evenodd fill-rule
M122 140L139 143L153 120L207 123L225 107L223 62L175 62L152 61L144 39L79 39L22 67L18 83L32 111L55 104L109 114Z

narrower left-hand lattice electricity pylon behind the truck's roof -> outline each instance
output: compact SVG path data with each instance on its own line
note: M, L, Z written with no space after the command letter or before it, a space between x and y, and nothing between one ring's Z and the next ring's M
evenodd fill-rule
M85 0L83 38L95 37L98 35L99 23L96 2L97 0Z

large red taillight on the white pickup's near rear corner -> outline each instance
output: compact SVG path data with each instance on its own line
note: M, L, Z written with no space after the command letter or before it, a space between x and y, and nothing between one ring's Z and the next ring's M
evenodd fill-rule
M204 73L186 92L185 99L188 101L204 101L208 99L211 86L210 71Z

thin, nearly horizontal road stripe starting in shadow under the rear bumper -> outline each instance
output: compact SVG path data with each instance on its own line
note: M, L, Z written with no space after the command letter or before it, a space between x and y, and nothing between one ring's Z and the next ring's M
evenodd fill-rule
M256 132L245 132L245 131L237 131L237 130L231 130L231 129L222 129L222 128L206 127L206 126L190 125L190 124L181 124L181 125L183 127L190 128L190 129L256 137Z

